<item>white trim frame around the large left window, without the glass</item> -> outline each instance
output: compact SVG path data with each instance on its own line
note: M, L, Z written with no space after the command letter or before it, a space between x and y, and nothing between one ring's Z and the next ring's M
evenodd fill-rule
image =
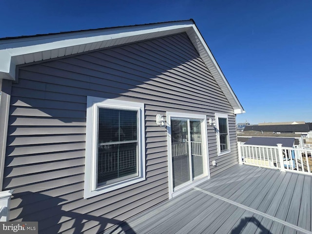
M98 107L138 111L138 176L97 188ZM145 180L144 103L87 97L84 198L101 195Z

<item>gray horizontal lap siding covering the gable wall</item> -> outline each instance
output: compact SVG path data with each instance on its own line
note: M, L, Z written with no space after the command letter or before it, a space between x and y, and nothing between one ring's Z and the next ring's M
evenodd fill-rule
M65 52L64 52L65 53ZM145 104L146 180L83 199L87 96ZM186 34L35 63L12 85L3 189L15 189L12 221L39 232L104 230L168 198L166 111L229 115L230 154L218 157L207 126L212 175L237 163L234 111Z

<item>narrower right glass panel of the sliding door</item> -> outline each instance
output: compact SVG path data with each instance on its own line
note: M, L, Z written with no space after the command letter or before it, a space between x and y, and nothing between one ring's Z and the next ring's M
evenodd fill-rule
M201 176L203 170L201 122L190 121L192 178Z

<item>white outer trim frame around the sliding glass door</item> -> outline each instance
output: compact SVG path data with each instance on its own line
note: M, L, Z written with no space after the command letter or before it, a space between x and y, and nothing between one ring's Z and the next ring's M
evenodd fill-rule
M205 115L197 115L197 114L188 114L188 113L177 113L177 112L166 112L166 124L167 124L167 149L168 149L168 187L169 187L169 199L184 193L185 191L195 187L196 185L206 181L210 178L210 168L209 168L209 154L208 154L208 133L207 133L207 116ZM200 178L196 179L194 182L186 185L183 188L180 188L174 191L173 188L173 171L172 171L172 147L171 147L171 119L200 119L204 123L202 126L202 136L204 137L203 142L203 155L204 158L204 174Z

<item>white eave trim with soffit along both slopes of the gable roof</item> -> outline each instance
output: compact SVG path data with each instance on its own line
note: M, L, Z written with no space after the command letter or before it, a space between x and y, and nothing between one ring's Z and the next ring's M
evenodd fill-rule
M186 32L234 109L244 113L193 20L0 40L0 79L16 80L16 66Z

